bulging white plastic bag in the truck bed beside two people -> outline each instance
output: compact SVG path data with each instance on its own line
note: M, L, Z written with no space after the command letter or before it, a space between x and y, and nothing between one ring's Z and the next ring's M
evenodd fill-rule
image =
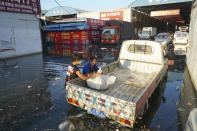
M108 89L116 81L115 76L100 75L86 80L88 86L97 90Z

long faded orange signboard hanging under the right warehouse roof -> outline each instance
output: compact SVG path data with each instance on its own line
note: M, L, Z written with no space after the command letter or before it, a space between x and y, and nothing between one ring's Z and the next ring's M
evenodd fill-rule
M151 11L152 17L154 17L154 16L171 16L171 15L180 15L180 9Z

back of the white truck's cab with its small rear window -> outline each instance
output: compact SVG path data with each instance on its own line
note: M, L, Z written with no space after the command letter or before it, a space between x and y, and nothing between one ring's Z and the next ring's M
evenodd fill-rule
M120 50L119 59L156 64L163 64L164 60L161 44L148 40L124 41Z

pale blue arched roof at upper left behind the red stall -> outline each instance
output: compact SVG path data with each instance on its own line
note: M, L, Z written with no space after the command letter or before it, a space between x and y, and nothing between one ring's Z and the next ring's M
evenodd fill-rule
M82 9L68 7L68 6L58 6L58 7L50 9L45 14L45 16L49 17L49 16L60 16L60 15L73 15L73 14L82 13L82 12L87 12L87 11L82 10Z

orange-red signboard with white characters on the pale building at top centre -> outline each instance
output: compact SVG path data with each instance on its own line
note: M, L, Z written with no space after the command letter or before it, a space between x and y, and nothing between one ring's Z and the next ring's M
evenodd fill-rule
M123 20L123 11L101 12L101 20Z

